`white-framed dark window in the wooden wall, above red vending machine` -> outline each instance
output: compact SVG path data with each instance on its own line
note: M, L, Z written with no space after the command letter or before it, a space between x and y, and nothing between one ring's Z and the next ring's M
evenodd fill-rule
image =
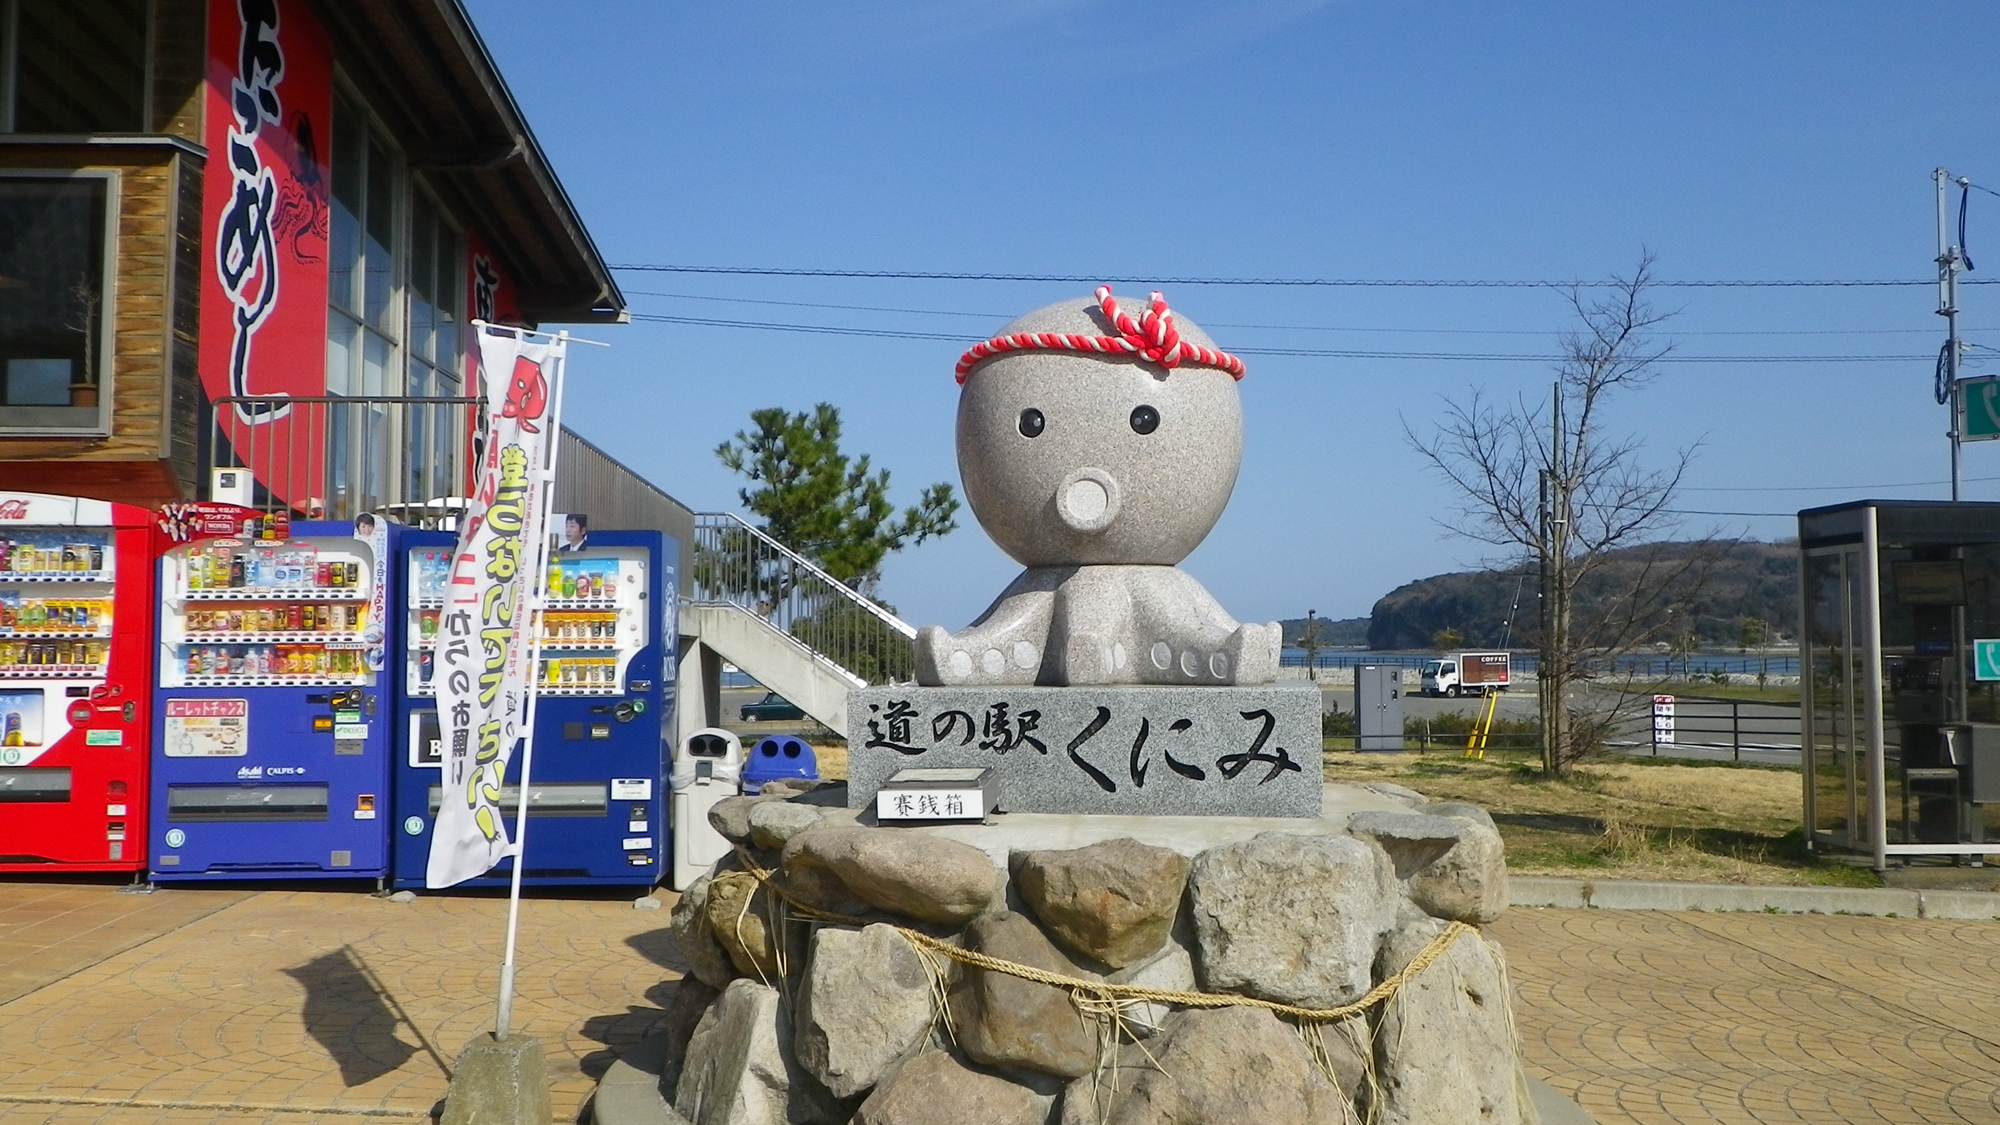
M0 430L104 432L114 172L0 172Z

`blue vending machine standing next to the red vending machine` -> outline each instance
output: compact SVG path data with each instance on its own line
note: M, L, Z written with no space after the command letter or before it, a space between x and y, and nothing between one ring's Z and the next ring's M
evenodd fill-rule
M280 516L162 554L154 881L388 877L398 530Z

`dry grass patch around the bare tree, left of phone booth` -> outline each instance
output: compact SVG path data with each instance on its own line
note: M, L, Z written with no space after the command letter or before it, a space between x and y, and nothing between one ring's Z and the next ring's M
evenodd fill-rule
M1514 875L1760 885L1880 885L1804 851L1796 771L1588 763L1548 781L1524 755L1326 755L1328 781L1394 781L1494 815Z

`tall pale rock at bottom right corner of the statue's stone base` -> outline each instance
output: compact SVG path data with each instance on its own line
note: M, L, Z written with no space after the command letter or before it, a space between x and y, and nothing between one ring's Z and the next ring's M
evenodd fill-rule
M1410 919L1382 949L1382 977L1400 973L1444 923ZM1522 1095L1500 947L1464 933L1384 1007L1376 1031L1382 1125L1524 1125L1536 1121Z

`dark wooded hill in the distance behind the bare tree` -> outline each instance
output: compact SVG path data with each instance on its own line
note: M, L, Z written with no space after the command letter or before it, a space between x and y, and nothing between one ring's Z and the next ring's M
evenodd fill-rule
M1590 617L1592 597L1610 597L1616 589L1612 581L1616 571L1630 573L1644 550L1650 546L1614 554L1612 573L1602 583L1606 589L1578 591L1578 617ZM1520 595L1518 609L1516 591ZM1514 631L1506 643L1520 649L1534 643L1540 615L1534 567L1434 575L1396 587L1374 605L1374 613L1368 617L1368 647L1430 649L1432 635L1440 629L1456 629L1468 649L1496 649L1508 635L1510 615L1516 613ZM1736 544L1694 603L1694 633L1702 645L1736 645L1744 619L1762 619L1774 639L1792 637L1798 631L1796 542Z

